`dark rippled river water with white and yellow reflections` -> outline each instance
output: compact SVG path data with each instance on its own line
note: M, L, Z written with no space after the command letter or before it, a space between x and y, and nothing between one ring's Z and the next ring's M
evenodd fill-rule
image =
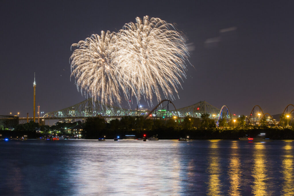
M294 195L294 141L0 141L0 195Z

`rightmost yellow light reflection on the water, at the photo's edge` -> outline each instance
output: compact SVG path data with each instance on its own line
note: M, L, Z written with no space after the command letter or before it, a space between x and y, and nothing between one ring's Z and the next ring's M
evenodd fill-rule
M281 195L294 195L293 180L293 153L291 144L284 147L285 155L282 161L282 173L284 182L282 184Z

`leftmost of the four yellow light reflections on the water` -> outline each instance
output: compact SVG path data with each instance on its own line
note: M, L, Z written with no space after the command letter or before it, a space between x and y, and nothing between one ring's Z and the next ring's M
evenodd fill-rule
M221 195L220 190L220 165L219 165L219 156L218 156L218 141L211 140L210 147L210 157L208 159L208 195Z

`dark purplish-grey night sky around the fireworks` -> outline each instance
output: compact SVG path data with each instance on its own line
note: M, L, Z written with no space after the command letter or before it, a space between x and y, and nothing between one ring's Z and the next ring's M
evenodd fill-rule
M32 117L34 72L41 111L85 100L70 81L71 44L102 30L117 32L146 15L175 23L188 38L195 68L188 66L173 101L177 108L206 100L237 115L249 115L254 105L282 113L294 103L293 6L293 1L1 1L0 115Z

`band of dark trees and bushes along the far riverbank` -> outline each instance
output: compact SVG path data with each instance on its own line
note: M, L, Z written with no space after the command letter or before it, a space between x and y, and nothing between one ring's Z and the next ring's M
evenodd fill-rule
M125 135L136 135L142 138L158 135L159 139L178 139L180 137L189 139L230 139L237 140L244 135L254 137L260 133L265 133L267 138L276 140L293 140L293 126L268 127L261 121L259 126L246 125L245 117L240 116L235 122L220 119L219 126L209 115L203 114L201 118L185 117L181 120L171 119L144 119L143 116L124 116L121 120L113 119L108 123L99 117L91 117L85 123L80 121L75 123L57 123L54 126L41 125L29 122L19 124L12 131L0 130L2 137L22 137L36 138L42 135L76 137L81 134L81 138L97 139L106 136L106 139L113 139L117 136L123 138ZM83 129L76 131L71 127L80 125ZM285 124L285 122L284 122ZM37 130L37 131L36 131ZM79 132L79 133L78 133ZM77 137L79 138L79 137Z

